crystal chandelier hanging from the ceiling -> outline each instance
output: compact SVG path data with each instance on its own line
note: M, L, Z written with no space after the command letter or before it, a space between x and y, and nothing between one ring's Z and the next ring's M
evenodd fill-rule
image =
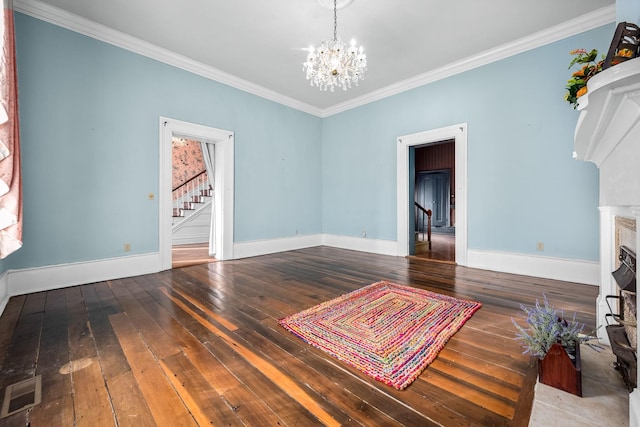
M358 86L358 81L364 78L367 56L362 46L356 47L355 40L347 46L338 38L337 0L333 1L333 40L322 41L318 49L311 46L303 69L311 86L323 91L333 92L336 86L347 90L352 83Z

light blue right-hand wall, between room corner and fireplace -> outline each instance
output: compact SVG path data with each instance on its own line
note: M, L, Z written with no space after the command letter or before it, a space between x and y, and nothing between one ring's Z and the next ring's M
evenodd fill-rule
M572 159L573 49L606 53L613 25L323 121L323 230L396 240L396 138L468 123L470 249L597 260L598 171Z

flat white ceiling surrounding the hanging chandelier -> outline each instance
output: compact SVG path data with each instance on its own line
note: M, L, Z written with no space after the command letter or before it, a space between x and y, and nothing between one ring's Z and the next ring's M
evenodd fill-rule
M615 0L353 0L338 10L338 37L364 46L368 71L358 87L334 93L310 86L302 71L303 49L333 37L333 10L318 0L42 3L326 110L603 7L610 10Z

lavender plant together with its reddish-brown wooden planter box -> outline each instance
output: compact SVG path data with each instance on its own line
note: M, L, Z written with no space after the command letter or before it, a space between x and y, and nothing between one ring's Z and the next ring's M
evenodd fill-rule
M563 310L557 310L544 296L544 305L536 300L533 308L520 305L525 312L527 327L511 319L518 330L516 339L529 353L538 358L538 380L542 384L582 396L580 343L590 339L584 336L584 325L570 321Z

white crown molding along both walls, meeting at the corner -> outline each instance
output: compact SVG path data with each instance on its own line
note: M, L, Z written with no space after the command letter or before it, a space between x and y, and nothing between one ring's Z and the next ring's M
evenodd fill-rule
M396 95L437 80L481 67L491 62L517 55L527 50L562 40L584 31L598 28L602 25L615 22L616 20L615 5L605 6L562 24L514 40L513 42L447 64L436 70L419 74L361 97L321 109L38 0L15 0L13 7L17 12L318 117L329 117L391 95Z

